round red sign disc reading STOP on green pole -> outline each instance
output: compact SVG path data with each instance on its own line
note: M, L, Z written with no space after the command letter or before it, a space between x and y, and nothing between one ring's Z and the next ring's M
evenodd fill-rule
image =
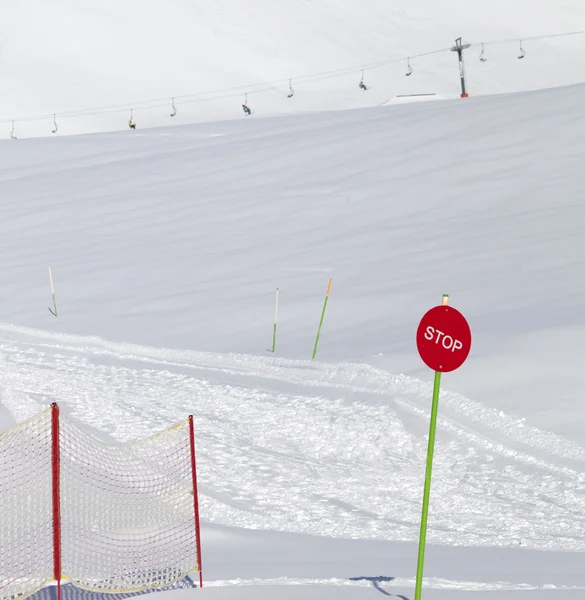
M471 350L471 330L465 317L450 306L435 306L421 319L416 346L423 362L441 373L458 369Z

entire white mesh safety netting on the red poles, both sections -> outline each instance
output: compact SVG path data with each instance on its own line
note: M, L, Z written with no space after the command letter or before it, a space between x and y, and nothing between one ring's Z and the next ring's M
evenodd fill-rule
M189 424L105 443L60 416L62 578L98 592L168 587L198 568ZM53 578L51 411L0 433L0 600Z

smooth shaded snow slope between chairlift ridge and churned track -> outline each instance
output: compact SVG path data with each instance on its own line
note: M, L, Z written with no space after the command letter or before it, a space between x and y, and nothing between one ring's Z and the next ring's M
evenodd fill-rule
M263 354L279 287L277 355L306 359L332 277L319 358L428 377L413 332L449 292L476 342L447 382L582 440L584 99L1 142L2 319Z

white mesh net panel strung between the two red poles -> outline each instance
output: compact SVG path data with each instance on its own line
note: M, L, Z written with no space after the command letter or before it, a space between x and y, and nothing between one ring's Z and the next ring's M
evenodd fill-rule
M197 570L189 424L106 444L61 418L63 575L104 592L160 589Z

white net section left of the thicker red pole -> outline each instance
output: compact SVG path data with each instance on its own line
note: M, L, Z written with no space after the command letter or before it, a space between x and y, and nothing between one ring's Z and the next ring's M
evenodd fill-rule
M51 409L0 432L0 599L53 577Z

